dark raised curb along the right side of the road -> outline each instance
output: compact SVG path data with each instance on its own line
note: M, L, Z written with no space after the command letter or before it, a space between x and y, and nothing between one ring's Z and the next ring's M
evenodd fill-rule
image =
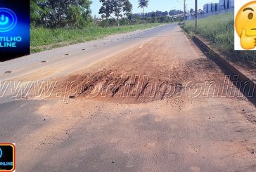
M216 51L211 48L210 44L202 37L195 35L192 40L197 46L199 46L201 50L203 49L207 52L210 52L211 55L213 55L216 59L215 61L217 61L217 65L219 65L219 67L224 68L223 70L226 70L233 76L238 76L238 81L240 81L241 84L245 83L242 88L240 88L242 89L243 93L245 87L250 85L249 91L252 88L252 96L248 98L248 96L245 95L245 97L248 98L248 100L250 100L250 102L256 106L256 76L246 72L230 60L227 60L226 55L222 51Z

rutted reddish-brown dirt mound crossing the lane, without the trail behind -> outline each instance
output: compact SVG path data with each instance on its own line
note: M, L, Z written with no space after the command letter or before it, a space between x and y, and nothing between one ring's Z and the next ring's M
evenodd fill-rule
M152 75L105 70L93 74L87 73L84 76L68 77L61 82L59 91L68 91L70 97L149 102L168 98L181 91L184 81L179 79L181 76L178 74L175 77L170 75L159 79Z

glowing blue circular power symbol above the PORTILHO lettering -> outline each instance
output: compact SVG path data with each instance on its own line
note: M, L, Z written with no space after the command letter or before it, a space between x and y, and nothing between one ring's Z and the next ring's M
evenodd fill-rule
M8 32L17 25L17 16L8 8L0 8L0 32Z

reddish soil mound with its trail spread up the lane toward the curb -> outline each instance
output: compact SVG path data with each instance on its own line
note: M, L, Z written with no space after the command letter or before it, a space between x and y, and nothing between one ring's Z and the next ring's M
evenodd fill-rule
M159 37L95 62L68 77L55 79L58 84L51 98L64 93L68 98L151 102L174 98L188 88L191 91L203 87L205 81L208 85L213 81L220 87L224 79L224 74L211 60L198 57L194 50L176 46L169 37Z

